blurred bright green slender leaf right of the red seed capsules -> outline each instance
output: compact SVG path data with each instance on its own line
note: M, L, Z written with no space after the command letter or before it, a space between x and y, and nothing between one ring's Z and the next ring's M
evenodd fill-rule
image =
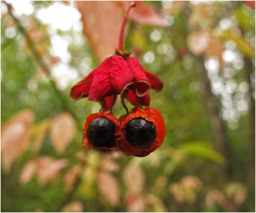
M224 164L225 158L217 151L213 150L207 143L204 142L187 142L177 146L180 151L190 155L199 156L208 160L212 160L219 164Z

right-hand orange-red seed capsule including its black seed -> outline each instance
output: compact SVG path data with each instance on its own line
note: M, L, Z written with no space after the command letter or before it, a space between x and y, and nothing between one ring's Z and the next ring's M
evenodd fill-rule
M119 119L123 132L118 144L126 156L145 157L155 151L164 140L165 124L162 115L153 107L133 108Z

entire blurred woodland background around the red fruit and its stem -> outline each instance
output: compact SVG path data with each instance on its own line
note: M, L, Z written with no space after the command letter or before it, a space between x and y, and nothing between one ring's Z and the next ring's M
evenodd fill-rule
M164 83L164 143L82 146L100 104L69 90L115 53L130 4L1 1L2 212L255 212L255 1L136 2L124 50Z

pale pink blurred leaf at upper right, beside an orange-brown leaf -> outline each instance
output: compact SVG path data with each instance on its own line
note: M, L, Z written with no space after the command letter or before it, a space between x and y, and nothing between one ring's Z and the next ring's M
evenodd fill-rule
M209 30L192 32L188 35L188 49L195 55L201 55L208 47L211 38Z

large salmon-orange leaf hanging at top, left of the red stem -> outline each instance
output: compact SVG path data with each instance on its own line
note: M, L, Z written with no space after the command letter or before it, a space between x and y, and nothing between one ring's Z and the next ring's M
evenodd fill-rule
M123 11L110 1L76 1L84 34L100 62L115 54Z

